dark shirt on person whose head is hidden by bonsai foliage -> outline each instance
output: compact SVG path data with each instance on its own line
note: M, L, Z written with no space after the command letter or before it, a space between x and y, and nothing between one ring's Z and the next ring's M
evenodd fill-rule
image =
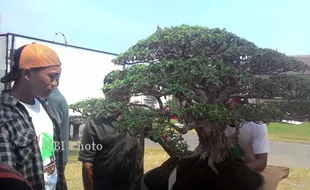
M111 118L88 119L78 159L93 163L95 190L138 190L144 145L138 138L115 130L114 122Z

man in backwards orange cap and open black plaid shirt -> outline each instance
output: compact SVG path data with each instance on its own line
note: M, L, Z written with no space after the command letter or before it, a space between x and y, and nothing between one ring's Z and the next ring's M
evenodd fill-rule
M67 189L59 121L46 98L61 73L57 54L40 44L18 48L2 83L14 82L0 100L0 163L21 173L35 190Z

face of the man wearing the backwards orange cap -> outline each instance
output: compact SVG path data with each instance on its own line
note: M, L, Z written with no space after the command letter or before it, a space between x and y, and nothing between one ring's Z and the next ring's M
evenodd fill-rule
M58 85L57 77L61 73L60 66L34 69L29 72L29 82L32 93L36 97L46 99Z

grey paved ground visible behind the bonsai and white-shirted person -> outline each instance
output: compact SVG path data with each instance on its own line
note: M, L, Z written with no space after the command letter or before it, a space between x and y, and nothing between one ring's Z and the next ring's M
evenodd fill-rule
M198 145L196 134L189 133L184 135L184 138L191 150ZM146 140L145 144L150 147L160 147L150 140ZM310 145L270 141L268 164L310 169Z

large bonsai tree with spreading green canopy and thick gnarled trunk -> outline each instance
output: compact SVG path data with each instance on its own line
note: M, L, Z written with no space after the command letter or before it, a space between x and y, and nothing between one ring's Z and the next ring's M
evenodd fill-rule
M238 142L242 123L309 119L310 81L289 74L304 71L306 65L226 30L158 27L113 62L127 67L106 76L106 98L100 100L105 106L97 112L121 105L120 130L137 136L143 130L171 158L198 158L215 176L221 175L219 164L232 157L230 147ZM234 107L229 101L233 95L242 96ZM125 101L133 96L153 97L158 107ZM182 127L167 120L171 110L165 109L165 100L171 97ZM235 135L225 136L227 125L236 127ZM182 134L193 129L199 145L189 151Z

